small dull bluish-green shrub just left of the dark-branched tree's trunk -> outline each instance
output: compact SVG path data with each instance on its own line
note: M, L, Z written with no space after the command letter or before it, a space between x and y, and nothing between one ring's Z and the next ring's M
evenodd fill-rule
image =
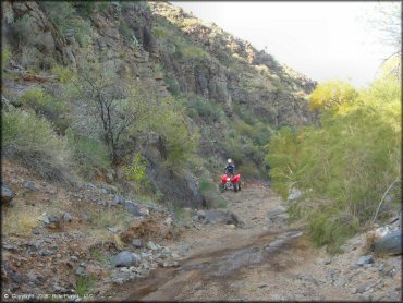
M80 135L72 129L68 129L66 138L81 175L91 180L110 168L108 149L100 141Z

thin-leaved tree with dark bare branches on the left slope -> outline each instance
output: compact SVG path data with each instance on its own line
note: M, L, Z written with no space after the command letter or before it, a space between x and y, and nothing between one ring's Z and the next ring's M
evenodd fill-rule
M118 165L131 125L146 118L145 96L138 85L99 63L86 63L77 72L75 85L83 109L96 121L112 165Z

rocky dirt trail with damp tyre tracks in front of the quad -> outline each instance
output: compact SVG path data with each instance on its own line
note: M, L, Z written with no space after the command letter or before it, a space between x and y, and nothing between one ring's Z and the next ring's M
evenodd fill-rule
M297 227L286 226L281 199L264 186L224 193L243 221L198 225L173 242L184 252L178 268L113 289L109 299L131 301L400 301L401 256L356 265L363 237L329 256Z

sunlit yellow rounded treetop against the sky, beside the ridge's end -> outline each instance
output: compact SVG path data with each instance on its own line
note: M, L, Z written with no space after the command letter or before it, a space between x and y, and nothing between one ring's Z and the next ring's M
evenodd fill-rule
M308 100L310 109L321 110L340 107L345 102L353 101L357 96L358 92L352 85L339 80L318 84L308 96Z

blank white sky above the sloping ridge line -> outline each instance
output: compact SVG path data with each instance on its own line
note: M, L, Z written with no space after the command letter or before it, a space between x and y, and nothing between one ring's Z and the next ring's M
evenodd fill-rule
M373 81L393 49L365 15L377 2L171 1L316 81ZM379 4L379 3L378 3ZM386 3L388 4L388 3Z

